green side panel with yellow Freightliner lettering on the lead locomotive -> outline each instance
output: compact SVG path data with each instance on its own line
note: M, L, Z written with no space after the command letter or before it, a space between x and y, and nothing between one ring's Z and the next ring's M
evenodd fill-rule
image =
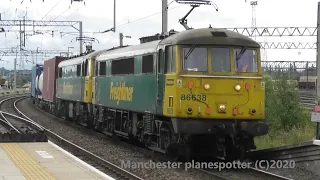
M107 76L96 77L96 103L115 109L155 113L157 77L142 74L141 56L134 57L134 74L110 76L110 64L107 62Z

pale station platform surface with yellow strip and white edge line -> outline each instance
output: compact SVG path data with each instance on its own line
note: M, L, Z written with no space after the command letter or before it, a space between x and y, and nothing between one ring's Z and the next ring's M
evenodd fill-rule
M0 180L109 179L51 142L0 143Z

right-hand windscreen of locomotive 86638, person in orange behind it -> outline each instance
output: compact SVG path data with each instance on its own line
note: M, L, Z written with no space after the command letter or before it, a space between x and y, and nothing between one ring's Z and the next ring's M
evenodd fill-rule
M258 55L254 49L237 48L234 50L236 72L258 72Z

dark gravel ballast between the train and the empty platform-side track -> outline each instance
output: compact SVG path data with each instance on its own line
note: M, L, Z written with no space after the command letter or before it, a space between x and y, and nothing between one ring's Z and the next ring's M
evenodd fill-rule
M121 167L121 161L130 161L131 163L150 162L152 158L150 154L142 153L140 148L124 145L123 143L115 142L112 138L95 135L91 130L83 131L83 128L77 128L71 123L45 113L37 109L30 99L22 100L18 103L20 110L28 117L53 131L61 137L71 141L72 143L100 156L101 158ZM123 167L123 166L122 166ZM134 168L126 169L131 173L143 179L176 179L176 180L191 180L191 179L213 179L212 176L191 170L185 171L183 168Z

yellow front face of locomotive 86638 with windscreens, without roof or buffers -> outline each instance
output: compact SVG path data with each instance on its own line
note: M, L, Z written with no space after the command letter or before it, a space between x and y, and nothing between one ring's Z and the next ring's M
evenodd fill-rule
M179 101L175 113L166 115L264 119L265 91L259 49L188 46L177 49L182 71L178 76L167 75L168 85L173 78L176 82L174 87L167 86L167 92L176 91Z

